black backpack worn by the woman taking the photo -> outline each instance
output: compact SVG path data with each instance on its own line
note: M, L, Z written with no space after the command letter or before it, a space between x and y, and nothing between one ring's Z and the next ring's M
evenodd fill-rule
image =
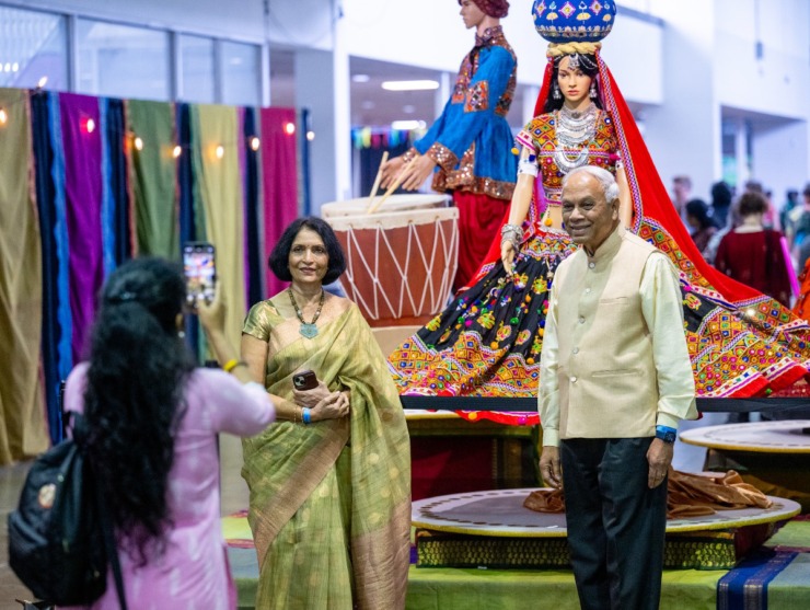
M83 418L72 415L73 438L34 461L18 509L9 515L9 564L39 599L80 606L106 590L109 556L126 609L112 527L82 450Z

